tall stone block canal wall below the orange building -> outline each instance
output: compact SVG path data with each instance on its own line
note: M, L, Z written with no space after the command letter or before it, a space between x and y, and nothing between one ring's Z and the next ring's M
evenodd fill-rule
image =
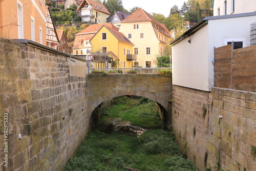
M47 47L7 39L0 47L0 170L61 170L89 130L86 78Z

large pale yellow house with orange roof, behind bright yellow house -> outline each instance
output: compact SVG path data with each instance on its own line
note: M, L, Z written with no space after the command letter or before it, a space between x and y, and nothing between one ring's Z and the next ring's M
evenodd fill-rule
M133 66L157 67L157 55L161 55L170 35L165 25L144 11L137 9L134 13L121 21L120 32L131 40L137 61Z

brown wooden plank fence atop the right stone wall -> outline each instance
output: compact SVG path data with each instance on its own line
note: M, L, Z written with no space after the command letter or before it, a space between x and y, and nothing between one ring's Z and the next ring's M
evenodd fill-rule
M256 45L240 49L227 45L214 53L215 87L256 92Z

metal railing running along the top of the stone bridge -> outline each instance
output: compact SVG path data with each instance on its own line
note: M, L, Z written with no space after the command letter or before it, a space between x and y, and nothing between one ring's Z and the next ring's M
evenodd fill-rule
M102 72L108 74L132 74L132 73L140 73L140 74L156 74L160 69L172 70L169 68L88 68L89 74L94 72Z

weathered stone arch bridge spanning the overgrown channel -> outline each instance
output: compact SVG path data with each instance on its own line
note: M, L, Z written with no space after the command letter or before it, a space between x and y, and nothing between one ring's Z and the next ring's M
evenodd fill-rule
M164 126L172 112L172 78L157 74L87 74L88 114L104 101L135 95L157 102Z

